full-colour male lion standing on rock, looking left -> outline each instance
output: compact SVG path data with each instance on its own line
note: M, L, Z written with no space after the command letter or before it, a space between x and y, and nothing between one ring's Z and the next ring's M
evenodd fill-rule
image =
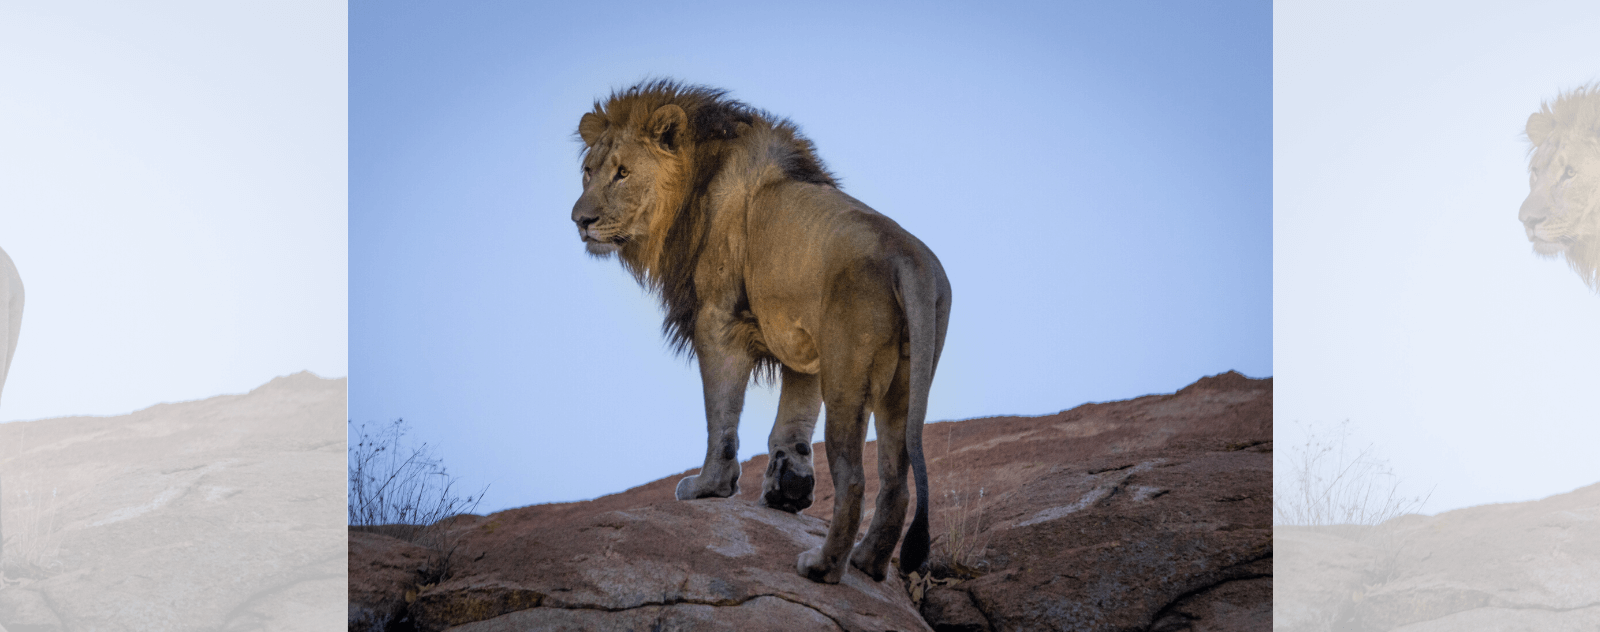
M861 526L867 414L878 430L877 512L850 563L883 579L906 522L906 469L917 515L901 570L928 558L922 424L944 347L950 283L909 232L838 190L811 141L787 120L725 91L646 82L597 101L578 123L584 194L573 221L595 256L659 293L662 330L699 360L706 464L677 498L739 493L739 410L752 373L782 376L760 502L811 506L811 430L827 403L834 522L800 574L838 582Z

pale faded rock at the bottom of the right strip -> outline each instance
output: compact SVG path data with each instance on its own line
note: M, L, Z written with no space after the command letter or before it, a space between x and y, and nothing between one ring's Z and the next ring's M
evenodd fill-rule
M1600 629L1600 485L1277 542L1283 630Z

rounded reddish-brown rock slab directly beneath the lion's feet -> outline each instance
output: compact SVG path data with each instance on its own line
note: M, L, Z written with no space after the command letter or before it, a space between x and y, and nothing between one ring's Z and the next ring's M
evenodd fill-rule
M744 499L552 515L523 507L458 525L450 578L421 590L419 630L925 630L899 578L795 573L827 525ZM357 581L352 565L352 581Z

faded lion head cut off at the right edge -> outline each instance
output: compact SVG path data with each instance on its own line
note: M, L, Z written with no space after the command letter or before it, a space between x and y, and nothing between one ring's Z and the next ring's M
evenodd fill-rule
M1531 158L1522 221L1533 251L1566 262L1600 291L1600 83L1544 102L1528 117Z

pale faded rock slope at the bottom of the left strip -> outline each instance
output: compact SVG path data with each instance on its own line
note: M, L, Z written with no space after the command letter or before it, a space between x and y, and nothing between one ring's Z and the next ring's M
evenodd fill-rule
M338 627L344 382L0 424L6 538L35 554L8 549L0 595L40 595L62 630Z

